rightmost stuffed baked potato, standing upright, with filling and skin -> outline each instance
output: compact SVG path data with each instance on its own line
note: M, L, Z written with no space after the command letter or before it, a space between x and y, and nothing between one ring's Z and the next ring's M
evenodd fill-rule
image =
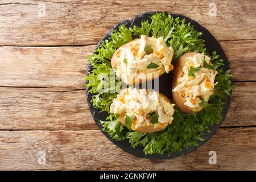
M201 100L206 102L213 94L214 70L210 57L203 53L188 52L177 60L172 81L172 97L184 113L197 113L203 109Z

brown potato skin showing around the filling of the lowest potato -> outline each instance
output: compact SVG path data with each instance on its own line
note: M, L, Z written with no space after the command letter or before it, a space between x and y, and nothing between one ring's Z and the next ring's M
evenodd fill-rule
M123 89L119 94L121 94L121 96L123 96L123 94L125 94L128 91L128 89ZM151 90L147 90L147 92L152 92ZM166 96L164 96L164 94L159 93L159 96L162 97L165 101L167 102L171 102ZM122 123L122 125L126 126L125 124L125 117L119 117L119 121ZM167 126L169 125L169 123L159 123L158 126L156 128L154 128L153 125L146 125L146 123L142 126L139 126L136 130L137 132L141 132L141 133L152 133L152 132L156 132L156 131L161 131L163 129L165 129Z

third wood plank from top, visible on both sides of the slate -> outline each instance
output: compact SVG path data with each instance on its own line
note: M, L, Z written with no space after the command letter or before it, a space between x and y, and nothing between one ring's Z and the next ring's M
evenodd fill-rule
M222 126L256 126L256 84L237 82ZM98 129L84 90L0 88L2 130Z

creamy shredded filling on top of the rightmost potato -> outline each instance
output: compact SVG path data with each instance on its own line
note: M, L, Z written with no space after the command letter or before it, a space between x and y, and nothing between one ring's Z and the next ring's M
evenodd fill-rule
M209 96L213 94L215 77L217 71L213 69L204 68L204 59L208 65L210 63L210 57L205 56L203 53L197 53L191 57L188 57L184 67L183 75L178 78L177 86L174 88L174 92L179 92L180 96L185 99L184 105L191 108L200 108L199 105L201 98L205 101L209 100ZM199 71L195 72L195 77L188 76L189 68L200 68Z

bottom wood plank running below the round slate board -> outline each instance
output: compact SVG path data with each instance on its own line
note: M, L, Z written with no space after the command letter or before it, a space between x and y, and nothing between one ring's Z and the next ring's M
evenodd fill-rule
M123 152L100 130L0 131L0 169L255 169L255 135L255 127L220 129L196 151L151 160ZM216 165L209 165L209 151L216 151Z

